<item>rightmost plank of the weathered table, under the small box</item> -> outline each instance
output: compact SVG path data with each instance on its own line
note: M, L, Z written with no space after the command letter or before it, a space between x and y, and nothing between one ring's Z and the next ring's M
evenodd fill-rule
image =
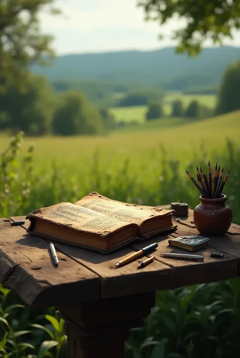
M166 235L165 237L161 236L151 239L149 240L149 244L158 242L158 247L154 255L159 262L162 262L172 268L175 288L196 283L226 280L237 276L237 273L239 272L237 262L240 262L240 240L234 235L230 235L230 239L228 234L223 238L211 239L209 247L207 246L204 249L194 252L194 254L204 255L204 262L190 260L182 261L180 259L171 259L160 256L160 254L164 252L191 253L189 251L170 246L168 240L171 237L199 234L193 222L192 210L189 210L188 217L179 218L174 216L174 220L178 223L176 232ZM239 230L239 226L232 224L230 230L234 234ZM235 240L238 240L239 242L239 249L237 251L234 245ZM211 257L210 253L212 251L222 252L223 243L225 245L224 258L220 259ZM141 244L139 245L134 243L132 244L132 247L135 250L138 250L141 247ZM161 289L159 282L156 283L155 289Z

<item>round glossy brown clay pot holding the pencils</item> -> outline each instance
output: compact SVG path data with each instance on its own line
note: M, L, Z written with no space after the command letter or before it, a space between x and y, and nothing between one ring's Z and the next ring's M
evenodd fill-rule
M199 233L207 236L224 235L232 221L232 209L225 204L227 196L218 199L199 197L198 204L193 211L193 219Z

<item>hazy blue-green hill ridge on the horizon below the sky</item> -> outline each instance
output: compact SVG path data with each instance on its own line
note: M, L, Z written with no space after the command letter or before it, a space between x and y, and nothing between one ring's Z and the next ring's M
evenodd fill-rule
M51 67L34 65L32 71L56 80L132 81L145 84L185 79L189 86L216 85L240 48L205 48L197 58L177 54L174 47L155 51L121 51L58 56Z

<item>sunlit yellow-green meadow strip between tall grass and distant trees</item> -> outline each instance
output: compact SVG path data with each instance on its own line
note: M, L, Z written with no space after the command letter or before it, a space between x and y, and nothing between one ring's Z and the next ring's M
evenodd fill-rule
M181 118L166 118L150 121L132 131L114 132L102 137L45 137L26 138L24 148L35 145L35 159L39 166L51 164L54 158L58 164L71 162L75 168L88 166L95 153L104 161L112 159L115 165L130 158L135 166L151 158L151 153L164 146L170 157L190 160L192 153L199 152L199 145L205 143L206 149L223 146L225 138L239 141L240 112L200 121L187 121ZM139 127L141 131L139 131ZM125 130L125 128L124 128ZM135 130L135 132L134 132ZM0 152L9 139L0 137Z

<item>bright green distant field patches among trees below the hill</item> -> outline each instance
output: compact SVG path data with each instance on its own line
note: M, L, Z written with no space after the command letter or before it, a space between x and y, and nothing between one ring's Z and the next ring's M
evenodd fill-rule
M182 100L183 106L187 107L193 100L197 100L202 105L214 108L216 104L216 96L214 94L182 94L181 92L169 92L164 97L164 112L168 116L172 111L172 102L175 100ZM137 121L143 123L147 111L146 106L137 107L113 107L111 113L114 115L115 120L131 122Z

